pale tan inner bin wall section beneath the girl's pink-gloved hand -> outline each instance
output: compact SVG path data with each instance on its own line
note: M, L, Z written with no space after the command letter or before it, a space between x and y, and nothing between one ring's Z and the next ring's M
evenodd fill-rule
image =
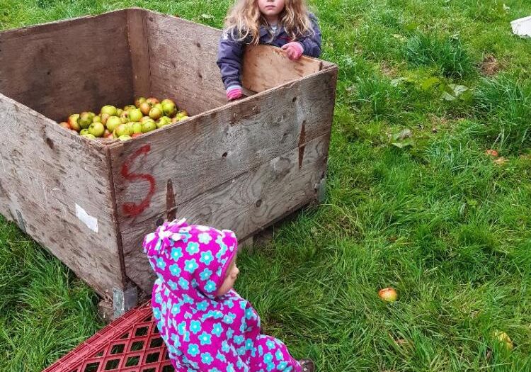
M302 56L291 61L279 47L250 45L246 47L242 66L242 84L251 91L265 91L321 71L323 62Z

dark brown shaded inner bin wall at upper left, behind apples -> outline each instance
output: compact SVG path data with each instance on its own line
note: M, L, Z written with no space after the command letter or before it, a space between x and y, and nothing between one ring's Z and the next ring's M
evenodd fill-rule
M132 101L126 11L0 32L0 92L53 120Z

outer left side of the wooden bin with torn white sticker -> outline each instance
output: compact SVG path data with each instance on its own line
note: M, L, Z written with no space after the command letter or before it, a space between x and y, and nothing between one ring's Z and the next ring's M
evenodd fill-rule
M0 94L0 213L101 295L123 286L111 189L103 145Z

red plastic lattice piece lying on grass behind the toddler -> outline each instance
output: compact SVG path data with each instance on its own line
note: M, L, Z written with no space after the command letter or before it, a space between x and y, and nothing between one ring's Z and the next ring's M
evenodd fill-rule
M130 310L43 372L173 372L148 304Z

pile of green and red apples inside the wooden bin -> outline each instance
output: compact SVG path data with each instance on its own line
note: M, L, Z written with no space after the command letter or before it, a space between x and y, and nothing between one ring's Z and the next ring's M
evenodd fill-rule
M171 99L159 102L153 97L139 97L134 105L124 108L103 106L98 115L92 112L74 113L59 125L91 140L110 138L126 141L187 118L188 113L178 111Z

